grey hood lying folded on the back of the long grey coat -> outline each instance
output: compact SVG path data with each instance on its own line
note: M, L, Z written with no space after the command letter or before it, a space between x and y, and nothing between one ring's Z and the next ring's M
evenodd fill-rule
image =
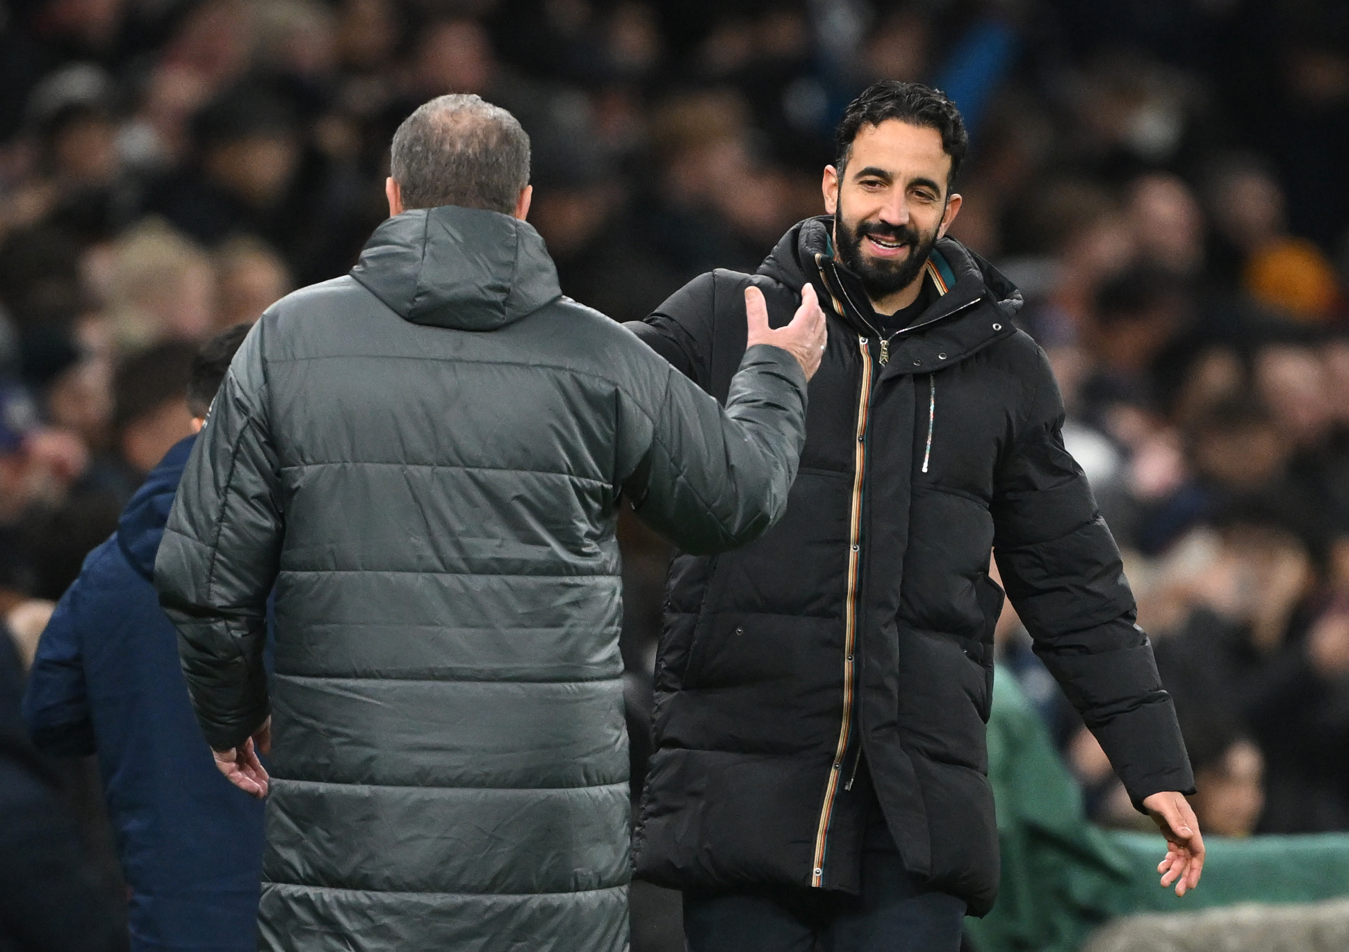
M563 295L533 225L457 205L384 221L351 276L405 321L459 330L503 328Z

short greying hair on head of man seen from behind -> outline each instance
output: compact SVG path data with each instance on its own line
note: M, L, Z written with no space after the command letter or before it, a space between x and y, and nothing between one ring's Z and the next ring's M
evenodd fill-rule
M406 209L463 205L511 214L529 185L529 136L480 96L437 96L394 132L389 171Z

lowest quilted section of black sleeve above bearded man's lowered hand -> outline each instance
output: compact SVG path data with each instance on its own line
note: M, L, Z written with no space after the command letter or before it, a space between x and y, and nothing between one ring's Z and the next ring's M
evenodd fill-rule
M1194 771L1170 694L1121 712L1093 730L1135 809L1153 793L1194 793Z

